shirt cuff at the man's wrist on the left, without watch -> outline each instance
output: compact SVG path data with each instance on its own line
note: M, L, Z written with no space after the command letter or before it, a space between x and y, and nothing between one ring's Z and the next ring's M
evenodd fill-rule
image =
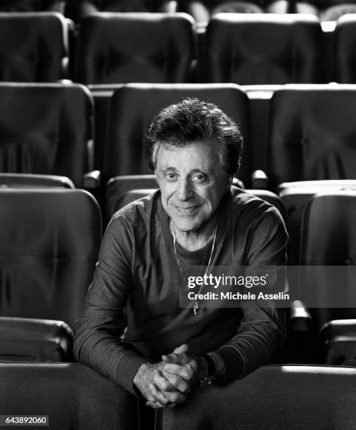
M138 393L134 388L134 376L144 363L147 363L147 358L140 357L130 351L120 357L115 368L114 381L135 397L138 397Z

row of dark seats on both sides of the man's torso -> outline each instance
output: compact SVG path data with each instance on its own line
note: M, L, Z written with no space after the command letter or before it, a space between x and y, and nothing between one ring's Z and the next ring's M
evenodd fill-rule
M107 188L108 209L112 213L146 196L151 189L144 187L155 187L153 182L151 176L113 178ZM356 344L356 321L351 321L351 327L350 321L342 325L329 324L319 337L318 332L330 320L356 318L352 292L355 273L352 275L347 268L356 266L356 181L322 183L317 194L313 194L315 185L309 185L309 194L303 194L307 185L299 184L300 191L297 184L291 184L289 197L294 198L297 206L289 207L288 213L283 197L281 200L263 190L248 192L274 204L287 225L293 222L293 229L289 230L291 244L297 245L293 252L298 254L300 249L300 255L299 261L290 263L345 266L337 279L325 271L317 275L308 272L307 276L298 273L298 279L294 276L290 283L291 299L305 304L295 305L291 310L288 360L294 363L329 360L334 364L354 357L350 357L350 344ZM141 189L134 190L138 186ZM324 193L319 193L322 188ZM0 358L70 361L70 329L80 316L101 242L98 204L84 190L28 185L27 188L0 188L0 207L0 315L3 317L0 320ZM297 212L299 214L295 215ZM292 254L291 247L289 254ZM331 297L329 301L328 297ZM303 306L308 309L300 315ZM43 320L63 321L64 325ZM345 339L341 339L345 335L348 335L346 344L349 346L346 352L343 349ZM294 344L295 337L308 347L299 348ZM335 337L338 338L336 343Z

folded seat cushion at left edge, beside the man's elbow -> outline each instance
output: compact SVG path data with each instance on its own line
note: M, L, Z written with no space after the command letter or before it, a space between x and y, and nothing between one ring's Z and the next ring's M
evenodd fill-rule
M0 317L0 360L74 361L73 334L63 321Z

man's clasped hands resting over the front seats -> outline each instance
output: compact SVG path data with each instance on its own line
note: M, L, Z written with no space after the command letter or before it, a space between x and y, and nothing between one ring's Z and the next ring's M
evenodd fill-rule
M173 408L183 403L191 385L198 378L198 358L187 355L188 345L183 344L159 363L144 363L137 370L134 384L153 409Z

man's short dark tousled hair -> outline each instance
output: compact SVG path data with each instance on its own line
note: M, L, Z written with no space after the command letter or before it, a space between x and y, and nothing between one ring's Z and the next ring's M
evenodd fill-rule
M229 176L239 170L242 136L239 126L212 103L184 98L155 116L147 133L148 166L155 170L160 143L184 146L194 141L216 141L222 167Z

